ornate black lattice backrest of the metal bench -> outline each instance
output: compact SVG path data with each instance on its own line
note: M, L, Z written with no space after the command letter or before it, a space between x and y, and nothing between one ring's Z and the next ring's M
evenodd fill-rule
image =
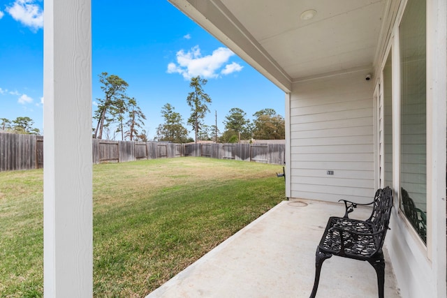
M371 221L376 232L382 231L378 234L377 240L379 246L383 245L386 231L388 230L388 224L390 223L391 209L393 208L393 191L389 186L386 188L379 188L374 195L374 204L372 208L372 214L367 221Z

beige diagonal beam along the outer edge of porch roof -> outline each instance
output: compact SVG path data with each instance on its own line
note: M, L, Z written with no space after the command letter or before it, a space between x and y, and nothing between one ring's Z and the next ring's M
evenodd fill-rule
M168 0L284 92L292 80L220 0Z

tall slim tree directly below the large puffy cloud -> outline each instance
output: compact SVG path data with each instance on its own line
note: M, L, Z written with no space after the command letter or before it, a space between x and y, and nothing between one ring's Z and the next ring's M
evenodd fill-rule
M198 132L202 125L201 121L205 118L207 112L210 112L207 103L211 103L211 98L205 91L203 91L203 86L205 86L205 84L207 84L207 80L201 79L200 75L191 78L189 87L191 87L193 91L190 92L188 98L186 98L186 102L189 107L191 107L191 116L188 119L188 124L193 127L195 142L198 140Z

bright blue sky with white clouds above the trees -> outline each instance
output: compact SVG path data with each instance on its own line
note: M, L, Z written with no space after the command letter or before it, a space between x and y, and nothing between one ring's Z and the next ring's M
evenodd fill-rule
M129 5L131 4L131 5ZM284 92L228 50L168 1L91 1L92 99L100 98L98 75L118 75L145 113L149 138L170 103L186 126L189 79L208 80L212 98L205 124L218 127L232 107L251 119L272 108L284 116ZM0 118L30 117L43 129L43 1L0 0ZM187 127L192 131L191 127ZM192 136L193 133L190 133Z

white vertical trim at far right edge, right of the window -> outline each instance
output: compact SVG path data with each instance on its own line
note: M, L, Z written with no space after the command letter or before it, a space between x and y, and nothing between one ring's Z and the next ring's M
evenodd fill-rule
M447 3L427 1L427 257L446 297Z

